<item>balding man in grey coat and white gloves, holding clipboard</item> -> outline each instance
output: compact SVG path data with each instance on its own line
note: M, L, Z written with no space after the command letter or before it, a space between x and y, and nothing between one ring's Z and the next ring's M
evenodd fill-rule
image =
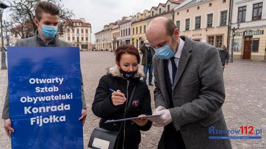
M210 131L227 130L221 108L225 87L218 51L206 43L179 37L173 21L163 17L149 24L146 36L156 52L154 114L163 114L150 118L154 126L164 126L158 149L232 149L229 139L209 139L228 136Z

